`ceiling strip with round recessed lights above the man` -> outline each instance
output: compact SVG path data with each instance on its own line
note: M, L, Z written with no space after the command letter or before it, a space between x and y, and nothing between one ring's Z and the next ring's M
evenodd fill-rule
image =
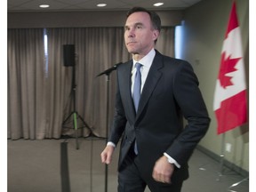
M182 10L201 0L7 0L8 12L76 12L76 11L121 11L141 6L154 10ZM156 3L162 6L154 6ZM97 4L107 4L97 7ZM40 4L49 4L40 8Z

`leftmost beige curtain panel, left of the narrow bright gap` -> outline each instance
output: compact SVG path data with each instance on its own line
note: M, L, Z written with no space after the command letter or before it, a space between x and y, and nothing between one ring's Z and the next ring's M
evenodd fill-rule
M8 138L36 139L44 131L44 34L8 30Z

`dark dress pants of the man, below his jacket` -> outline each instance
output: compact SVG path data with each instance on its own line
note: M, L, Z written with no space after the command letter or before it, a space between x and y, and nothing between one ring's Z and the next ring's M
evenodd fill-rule
M153 179L152 175L140 172L140 159L130 149L124 164L118 172L118 192L143 192L148 186L151 192L180 192L183 180L179 183L162 183ZM152 170L153 171L153 170Z

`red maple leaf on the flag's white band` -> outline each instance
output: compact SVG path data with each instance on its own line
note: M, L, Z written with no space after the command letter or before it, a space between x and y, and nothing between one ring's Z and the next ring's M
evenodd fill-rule
M223 52L221 54L221 60L220 60L220 72L218 78L220 79L220 85L226 89L227 86L233 85L231 82L232 76L227 76L228 73L236 71L237 69L235 68L236 63L238 60L241 58L235 58L235 59L230 59L230 55L228 56L227 59L225 56L226 52Z

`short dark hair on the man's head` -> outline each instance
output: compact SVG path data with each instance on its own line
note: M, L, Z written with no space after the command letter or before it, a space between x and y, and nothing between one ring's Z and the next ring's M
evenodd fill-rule
M160 20L160 17L156 14L156 12L153 12L153 11L149 11L143 7L133 7L131 10L129 10L126 14L127 18L133 13L133 12L147 12L149 17L150 17L150 20L151 20L151 23L152 23L152 26L154 29L158 30L159 33L160 33L160 30L161 30L161 20Z

